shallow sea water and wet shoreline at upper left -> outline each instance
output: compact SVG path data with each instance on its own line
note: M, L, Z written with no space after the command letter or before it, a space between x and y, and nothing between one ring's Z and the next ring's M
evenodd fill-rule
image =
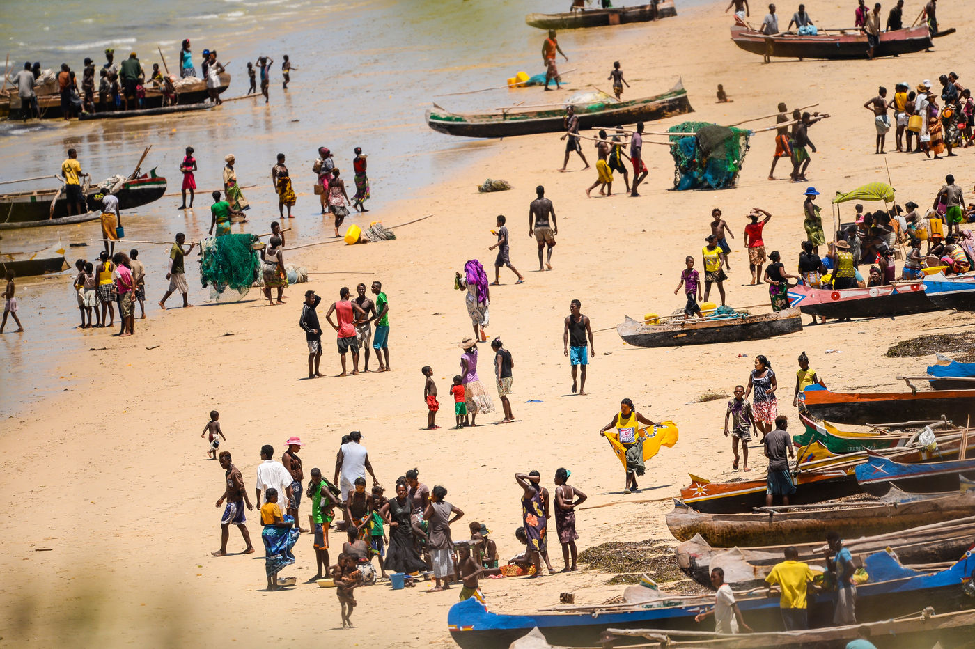
M679 11L693 3L680 3ZM104 62L103 50L115 49L116 63L135 51L145 69L154 62L178 66L180 42L189 38L199 64L202 51L215 49L232 75L224 99L244 95L246 63L258 56L274 59L269 104L261 97L227 101L218 109L169 117L94 122L50 120L0 123L0 180L51 176L59 172L65 151L78 150L84 171L94 181L132 172L145 146L152 150L142 171L155 168L177 192L177 172L186 146L195 148L200 172L195 210L176 210L178 197L165 197L133 213L123 213L129 239L168 241L176 231L192 240L210 225L210 191L221 187L223 157L233 153L237 173L252 203L251 223L234 231L266 232L278 218L270 168L285 153L299 193L289 243L297 245L331 235L331 218L323 219L311 194L311 164L318 146L328 146L336 166L351 171L353 148L369 155L372 199L361 220L383 219L383 207L401 197L422 196L423 189L461 165L476 164L497 146L493 140L454 138L431 131L423 119L431 100L452 110L471 110L530 103L540 89L496 90L474 95L436 97L502 86L520 70L544 71L540 56L544 32L525 23L528 12L558 12L569 0L172 0L134 5L122 0L58 0L32 5L31 19L17 19L13 4L0 6L0 34L10 53L10 71L24 60L58 68L66 62L82 69L82 59ZM676 25L675 25L676 26ZM586 46L610 37L604 29L560 34L569 57L583 57ZM162 51L162 57L160 52ZM297 70L290 90L281 88L282 55ZM165 58L164 58L165 57ZM570 67L571 64L569 63ZM161 65L163 67L163 65ZM586 80L566 75L570 88ZM567 91L566 95L571 92ZM555 94L548 94L555 95ZM560 95L561 96L561 95ZM554 98L554 97L553 97ZM546 96L546 100L553 100ZM346 182L354 192L351 172ZM0 191L57 187L54 179L0 185ZM302 193L304 195L302 195ZM355 212L346 224L357 222ZM98 222L56 228L7 231L0 252L32 252L53 244L70 248L67 257L95 259L100 242ZM128 250L130 246L124 245ZM160 317L155 302L165 288L165 249L141 248L149 277L150 318ZM190 297L208 295L190 271ZM27 278L19 283L21 317L31 329L27 339L0 336L0 356L7 356L24 389L0 391L0 412L15 407L24 394L43 396L59 389L54 367L59 356L98 346L102 331L80 332L71 293L73 268L57 276ZM172 298L171 304L175 304ZM68 377L70 378L70 377ZM13 383L8 383L11 385Z

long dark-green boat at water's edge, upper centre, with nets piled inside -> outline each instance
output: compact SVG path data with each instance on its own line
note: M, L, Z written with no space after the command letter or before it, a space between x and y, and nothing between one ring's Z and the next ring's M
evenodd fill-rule
M693 112L683 83L662 95L615 101L611 99L586 103L512 106L493 113L451 113L434 104L426 112L426 122L434 131L465 137L510 137L565 131L565 106L572 105L579 116L580 129L610 128L662 120Z

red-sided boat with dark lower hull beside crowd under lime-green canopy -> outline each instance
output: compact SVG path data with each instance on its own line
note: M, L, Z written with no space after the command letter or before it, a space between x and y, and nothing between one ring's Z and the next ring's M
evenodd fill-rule
M825 318L886 318L937 311L924 291L923 282L864 288L789 288L789 303L810 316Z

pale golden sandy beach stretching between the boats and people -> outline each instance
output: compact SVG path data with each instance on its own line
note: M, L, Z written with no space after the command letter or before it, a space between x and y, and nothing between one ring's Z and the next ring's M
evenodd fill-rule
M905 8L906 17L917 15L916 4ZM7 552L0 557L9 576L0 585L3 642L257 647L324 639L343 647L454 646L447 612L458 590L424 592L430 583L397 592L386 585L358 590L356 628L342 630L334 592L303 584L314 573L310 535L302 535L294 551L297 563L282 573L295 576L298 585L286 592L265 592L256 512L248 514L248 524L257 554L211 556L219 545L222 511L214 504L224 484L222 470L207 459L207 445L200 439L212 409L219 410L227 436L220 449L233 454L252 497L262 444L274 445L280 458L285 439L300 436L306 444L301 453L306 476L310 468L320 467L331 478L340 437L360 430L387 496L397 477L418 468L421 481L447 487L447 500L464 511L453 526L454 539L467 537L469 521L483 521L505 561L521 551L514 538L521 524L516 472L537 469L552 490L556 469L572 471L570 483L589 496L577 515L580 552L609 541L673 542L663 515L671 508L670 497L687 483L688 472L711 479L755 475L731 470L730 443L722 436L726 400L695 402L699 395L730 394L736 384L747 382L755 356L763 354L779 377L780 411L795 421L791 400L800 352L808 354L831 389L894 391L903 387L896 376L917 373L930 358L887 358L891 344L970 328L975 315L939 311L831 322L771 340L706 347L636 349L620 340L614 327L624 316L639 320L645 313L669 314L683 307L683 295L673 294L683 258L691 254L700 263L715 207L721 208L735 236L727 302L733 307L761 305L758 310L765 312L770 311L767 289L748 286L741 241L745 214L753 207L771 212L764 231L766 248L780 250L787 269L795 272L805 239L801 204L807 184L822 194L819 204L829 232L829 197L866 182L886 182L885 161L901 204L913 200L928 206L946 173L954 173L966 192L975 181L975 158L969 151L930 162L919 155L874 155L873 119L862 107L878 85L892 90L895 82L905 80L913 87L953 69L963 83L972 84L970 66L959 64L967 59L957 56L964 52L963 34L973 27L961 6L939 8L941 22L959 33L936 41L928 54L874 61L780 59L769 65L733 45L724 6L714 2L684 11L679 5L676 19L595 30L602 38L587 36L584 50L566 47L573 35L560 42L571 59L567 65L579 68L573 77L598 87L607 83L612 61L619 59L632 85L626 96L653 95L683 79L696 112L647 124L649 132L687 119L739 122L774 113L779 101L790 109L818 102L815 110L832 117L810 130L818 152L807 172L808 183L765 179L774 151L770 133L751 138L737 186L720 192L671 191L674 167L668 149L644 146L649 176L639 199L622 193L587 199L584 192L596 178L595 169L579 172L581 163L573 156L569 172L558 172L565 151L558 134L479 143L479 148L489 149L482 160L458 171L438 169L443 177L423 195L384 203L381 211L370 212L388 225L433 214L398 230L396 241L293 252L286 248L288 263L333 274L315 275L308 285L288 288L284 306L268 307L256 290L237 303L196 300L192 309L165 313L150 299L147 320L136 321L136 336L61 332L83 343L70 343L69 351L43 371L15 367L19 380L5 380L2 388L11 406L0 437L7 457L0 485L14 523ZM853 8L854 3L831 3L808 9L817 22L835 24L851 22ZM780 24L788 22L792 11L791 5L780 8ZM753 21L761 21L760 13L759 6L753 7ZM539 31L539 47L542 38ZM483 79L471 83L490 85ZM720 83L733 103L715 103ZM543 101L547 99L539 97L548 95L555 94L511 96L517 97L512 101ZM421 114L414 118L417 128L425 129ZM892 133L888 150L894 148L891 140ZM592 142L584 143L584 151L595 164ZM776 171L780 177L788 175L781 164ZM513 189L480 194L477 185L487 177L507 179ZM618 180L614 192L622 192ZM558 216L559 243L551 272L537 271L534 239L527 235L527 208L537 184L546 187ZM265 221L277 217L276 199L269 186L254 190L249 198L254 205L251 231L263 232ZM312 198L299 200L307 208ZM502 269L503 286L491 287L487 328L489 336L501 337L516 362L511 401L517 421L496 423L500 405L487 381L496 411L479 417L477 428L455 431L448 428L452 415L443 406L459 369L456 343L470 335L471 326L463 294L453 289L453 274L472 258L491 265L494 252L487 248L494 243L490 230L496 214L508 217L511 260L526 276L524 285L515 286L514 275ZM314 219L319 227L318 218L301 215L295 221L300 228ZM160 256L158 250L155 254ZM493 269L487 270L492 276ZM189 259L187 279L196 290L198 266ZM307 351L297 319L304 290L313 288L323 296L319 313L324 324L328 303L337 299L341 286L354 289L373 280L382 282L390 300L392 371L335 377L338 358L327 330L322 371L329 376L303 379ZM59 299L73 299L69 281L63 279ZM156 288L164 285L161 275L150 281ZM562 351L563 320L573 298L581 300L582 312L597 331L586 397L570 393ZM37 325L43 318L41 306L30 304L28 309L24 304L21 319L27 331L2 337L0 350L8 366L53 344ZM807 321L804 317L803 323ZM830 349L839 353L826 354ZM487 344L481 346L481 355L482 366L487 365ZM427 364L433 367L442 404L438 424L444 428L434 432L424 430L420 367ZM35 387L50 396L27 401ZM24 403L18 407L21 395ZM598 434L623 398L632 399L654 421L674 421L681 436L673 448L662 449L648 462L642 491L627 496L622 494L622 467ZM761 474L765 461L757 441L751 459ZM303 519L308 512L302 504ZM14 530L18 533L10 533ZM340 536L332 530L332 542ZM239 534L231 529L231 552L241 546ZM554 534L549 552L561 569ZM335 554L333 550L332 559ZM517 612L556 604L560 592L574 592L577 603L604 601L623 589L608 586L610 577L582 571L530 582L484 580L482 590L492 610Z

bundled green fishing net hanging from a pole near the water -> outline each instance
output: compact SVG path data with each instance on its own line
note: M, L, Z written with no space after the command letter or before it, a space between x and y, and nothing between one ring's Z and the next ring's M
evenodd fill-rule
M204 288L210 286L212 299L241 299L261 277L255 243L252 234L208 237L201 242L200 282Z

